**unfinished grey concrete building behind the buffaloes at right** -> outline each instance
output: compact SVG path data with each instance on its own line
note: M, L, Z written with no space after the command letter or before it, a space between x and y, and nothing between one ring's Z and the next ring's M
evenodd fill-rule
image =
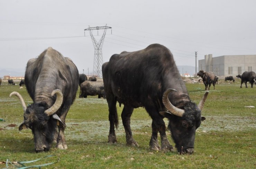
M204 59L198 61L198 68L214 72L217 76L236 76L245 71L256 72L256 55L204 55Z

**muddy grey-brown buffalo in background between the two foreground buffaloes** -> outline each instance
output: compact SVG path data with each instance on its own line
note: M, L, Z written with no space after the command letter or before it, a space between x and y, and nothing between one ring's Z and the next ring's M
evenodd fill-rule
M80 94L79 98L86 98L87 96L96 96L98 98L106 98L104 92L104 84L103 81L90 82L85 81L80 85Z

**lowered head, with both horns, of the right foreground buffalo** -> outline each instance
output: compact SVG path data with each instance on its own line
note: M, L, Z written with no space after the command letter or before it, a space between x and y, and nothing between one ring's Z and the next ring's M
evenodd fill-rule
M163 104L168 112L159 112L161 115L169 119L168 129L175 142L175 147L180 154L194 152L195 130L200 126L201 121L205 120L201 117L201 110L207 98L208 91L205 92L202 100L197 106L193 102L187 102L184 109L177 108L171 104L168 94L175 89L167 89L163 95Z

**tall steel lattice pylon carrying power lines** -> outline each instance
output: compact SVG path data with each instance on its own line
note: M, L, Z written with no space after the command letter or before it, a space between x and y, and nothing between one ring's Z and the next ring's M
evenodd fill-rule
M100 38L100 41L97 42L96 39L94 38L93 34L92 34L92 30L99 30L99 29L104 29L103 30L103 35ZM98 78L102 78L102 64L103 64L103 57L102 57L102 45L103 45L103 41L106 35L106 31L107 29L111 29L111 27L93 27L91 28L89 26L89 28L85 29L84 31L89 31L90 35L91 35L91 39L92 39L92 43L94 46L94 61L93 61L93 75L96 75ZM98 32L99 35L99 32Z

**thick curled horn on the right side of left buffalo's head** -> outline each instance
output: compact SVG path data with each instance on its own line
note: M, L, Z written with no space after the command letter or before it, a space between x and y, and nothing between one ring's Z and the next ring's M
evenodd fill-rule
M55 89L53 92L52 92L52 96L54 95L57 95L56 97L56 101L55 103L52 105L52 107L48 108L47 110L45 110L45 114L47 114L47 116L51 116L53 115L55 112L57 112L57 110L61 107L62 105L62 102L63 102L63 94L61 92L60 89Z

